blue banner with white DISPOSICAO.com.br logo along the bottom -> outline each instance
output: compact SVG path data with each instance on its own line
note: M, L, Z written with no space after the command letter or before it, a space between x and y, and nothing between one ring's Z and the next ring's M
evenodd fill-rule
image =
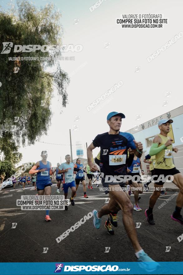
M183 274L183 262L2 262L1 275Z

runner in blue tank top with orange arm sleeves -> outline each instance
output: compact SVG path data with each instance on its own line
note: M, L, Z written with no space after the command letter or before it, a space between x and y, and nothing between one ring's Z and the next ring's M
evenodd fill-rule
M41 152L41 160L37 161L36 164L31 168L29 174L37 173L37 192L38 195L51 195L51 180L50 175L53 173L53 169L51 168L51 163L47 161L47 151ZM50 210L46 210L45 221L51 221L49 216Z

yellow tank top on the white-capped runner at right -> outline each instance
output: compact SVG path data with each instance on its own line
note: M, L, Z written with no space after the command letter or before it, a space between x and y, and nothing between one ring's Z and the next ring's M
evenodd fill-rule
M165 144L169 137L162 136L161 134L158 135L161 138L161 143L158 145ZM160 153L156 155L156 162L154 168L157 169L172 169L175 167L173 164L173 154L172 154L172 144L167 147L167 149L162 150Z

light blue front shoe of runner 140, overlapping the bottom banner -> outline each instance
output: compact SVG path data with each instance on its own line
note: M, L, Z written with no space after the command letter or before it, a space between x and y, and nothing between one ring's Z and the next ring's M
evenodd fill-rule
M159 266L158 262L155 262L150 258L144 251L139 253L140 258L137 260L139 266L145 269L148 272L153 272Z

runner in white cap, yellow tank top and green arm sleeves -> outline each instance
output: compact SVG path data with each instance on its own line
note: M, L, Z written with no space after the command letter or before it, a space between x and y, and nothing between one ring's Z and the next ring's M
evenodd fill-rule
M174 151L177 153L178 149L172 146L173 140L168 137L168 133L170 132L170 123L173 123L172 119L161 119L159 121L158 128L160 129L160 134L153 139L152 146L149 151L150 156L156 156L153 176L155 191L149 199L149 209L146 209L145 211L147 221L152 225L155 224L152 210L158 197L160 196L161 188L166 181L166 179L163 180L162 178L161 181L159 181L159 176L164 176L165 178L167 177L167 179L169 176L173 176L174 179L172 182L175 183L180 189L176 199L176 208L171 215L171 219L176 222L180 222L180 224L183 225L183 217L181 216L181 209L183 206L183 176L180 171L175 168L172 160L172 152Z

